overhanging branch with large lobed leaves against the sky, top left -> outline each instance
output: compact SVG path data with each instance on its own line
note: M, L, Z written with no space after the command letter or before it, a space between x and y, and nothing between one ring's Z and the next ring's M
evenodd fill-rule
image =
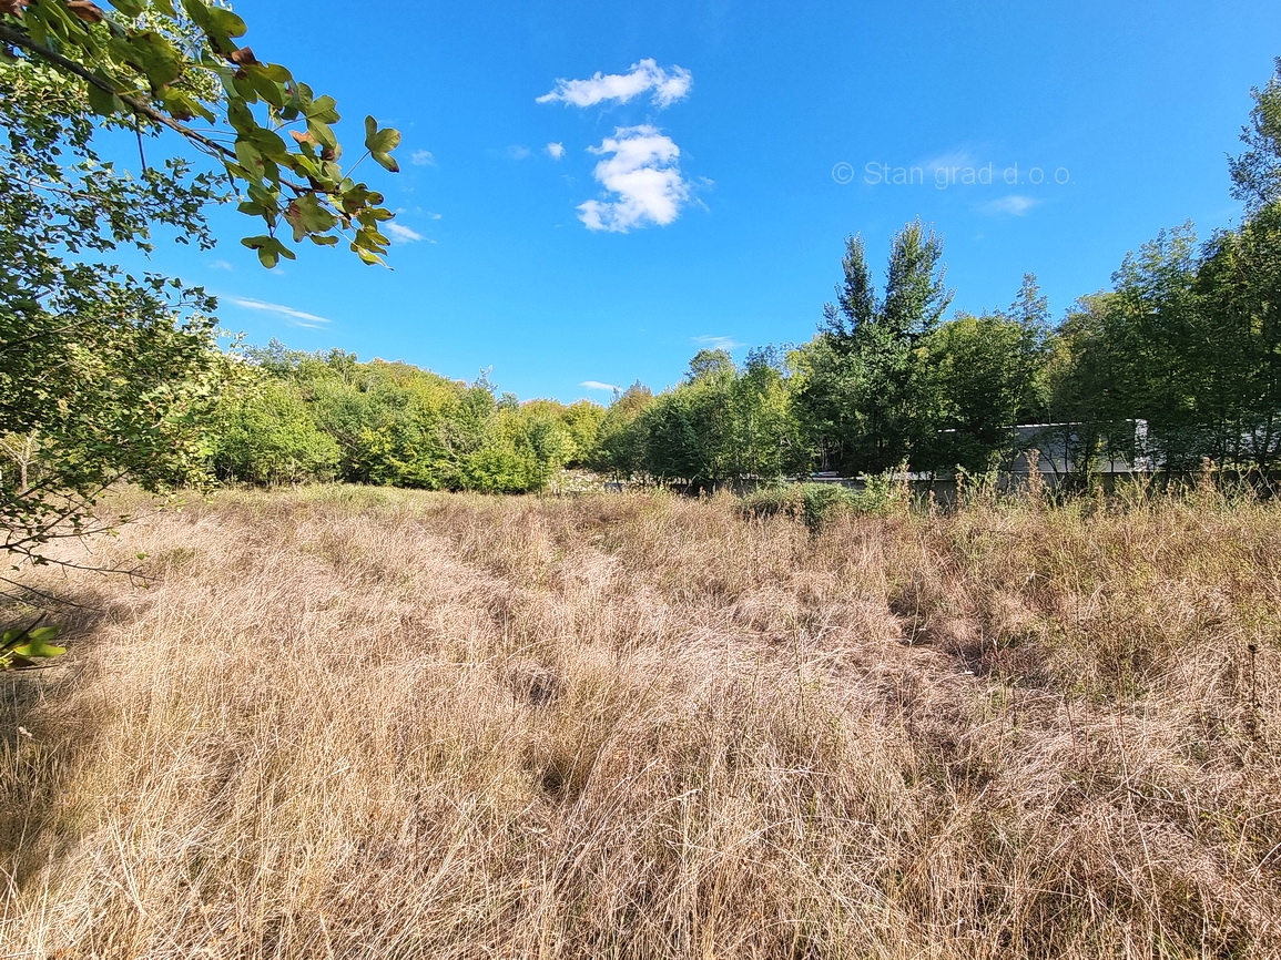
M382 262L392 218L382 195L346 175L333 132L333 97L316 95L288 68L257 59L241 38L245 22L206 0L0 0L0 45L10 68L53 73L105 125L131 124L151 136L179 134L214 160L237 192L240 210L263 220L246 237L265 266L295 253L284 238L333 246L346 237L365 262ZM213 132L197 131L199 119ZM286 136L282 136L284 133ZM388 170L400 133L365 119L364 147Z

